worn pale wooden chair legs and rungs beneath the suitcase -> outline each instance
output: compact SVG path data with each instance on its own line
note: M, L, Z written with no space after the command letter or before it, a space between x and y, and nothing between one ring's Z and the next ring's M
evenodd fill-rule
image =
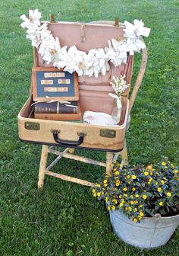
M54 148L55 147L53 147L53 146L49 147L47 145L42 145L42 154L41 154L41 160L40 160L40 165L39 165L39 181L38 181L39 189L43 188L44 179L45 179L46 174L51 175L55 178L61 178L61 180L64 180L64 181L71 181L71 182L81 184L84 186L94 187L95 184L92 182L81 180L78 178L73 178L73 177L70 177L70 176L67 176L64 174L57 174L55 172L49 171L54 165L56 165L58 163L58 161L62 157L74 159L74 160L77 160L80 162L85 162L86 164L103 166L103 167L105 167L106 174L109 174L111 172L111 162L117 160L118 155L121 154L122 165L128 163L126 142L124 143L124 149L121 152L118 152L118 153L106 152L106 162L99 162L99 161L96 161L96 160L93 160L90 158L85 158L80 155L74 155L74 149L72 149L72 148L66 148L66 149L64 149L63 152L55 150ZM49 153L58 155L58 157L55 158L55 160L48 167L46 167L46 162L47 162Z

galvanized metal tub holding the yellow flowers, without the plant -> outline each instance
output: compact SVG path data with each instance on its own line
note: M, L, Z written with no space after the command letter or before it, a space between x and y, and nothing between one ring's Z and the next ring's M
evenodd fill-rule
M128 219L120 210L109 212L111 225L124 242L138 248L157 248L165 245L179 225L179 215L146 217L140 223Z

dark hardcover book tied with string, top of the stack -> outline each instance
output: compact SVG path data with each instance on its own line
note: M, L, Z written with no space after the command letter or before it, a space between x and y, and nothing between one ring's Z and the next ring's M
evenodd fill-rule
M36 102L35 114L75 114L78 113L79 107L77 101L69 101L69 103L55 102Z

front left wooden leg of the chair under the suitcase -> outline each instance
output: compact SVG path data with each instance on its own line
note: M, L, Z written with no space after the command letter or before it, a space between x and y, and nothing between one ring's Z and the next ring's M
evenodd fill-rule
M42 154L39 164L39 181L38 181L38 188L43 188L44 178L45 178L45 171L46 171L46 162L48 156L48 146L42 145Z

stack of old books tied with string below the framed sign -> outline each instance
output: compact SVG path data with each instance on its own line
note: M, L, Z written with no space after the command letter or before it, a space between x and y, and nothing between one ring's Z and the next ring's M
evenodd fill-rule
M34 117L46 120L81 120L79 101L36 102Z

